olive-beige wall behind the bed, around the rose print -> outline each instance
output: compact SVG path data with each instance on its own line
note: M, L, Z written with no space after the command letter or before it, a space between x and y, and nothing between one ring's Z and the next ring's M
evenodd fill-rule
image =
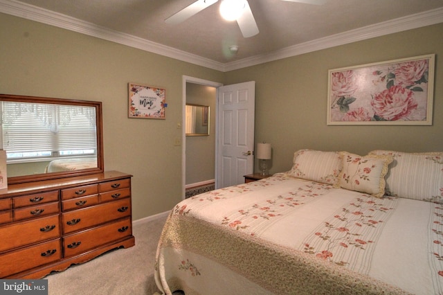
M271 172L291 168L302 148L443 151L443 24L231 71L226 84L255 80L255 142L272 144ZM435 53L432 126L327 126L329 69ZM257 171L257 165L255 165Z

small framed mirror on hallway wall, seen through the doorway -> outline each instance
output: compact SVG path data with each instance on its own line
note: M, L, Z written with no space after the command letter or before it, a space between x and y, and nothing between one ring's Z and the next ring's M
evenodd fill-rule
M186 136L209 135L209 107L186 104Z

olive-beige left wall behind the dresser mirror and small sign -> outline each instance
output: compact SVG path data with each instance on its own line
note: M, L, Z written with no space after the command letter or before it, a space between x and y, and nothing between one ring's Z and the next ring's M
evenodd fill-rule
M3 14L0 44L0 93L103 102L105 169L134 175L134 220L181 201L182 76L223 73ZM127 118L128 82L165 88L166 119Z

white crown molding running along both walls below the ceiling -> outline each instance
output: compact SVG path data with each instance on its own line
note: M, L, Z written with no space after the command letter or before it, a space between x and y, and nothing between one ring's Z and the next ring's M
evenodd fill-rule
M0 12L223 72L443 22L443 8L437 8L224 64L15 0L0 0Z

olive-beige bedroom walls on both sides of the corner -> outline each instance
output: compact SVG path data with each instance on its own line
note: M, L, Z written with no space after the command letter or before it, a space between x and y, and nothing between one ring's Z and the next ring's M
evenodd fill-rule
M181 200L182 76L256 81L255 142L273 145L271 172L300 148L365 154L380 148L443 150L443 24L219 71L0 14L0 93L103 102L105 169L134 175L134 220ZM327 71L436 53L432 126L327 126ZM127 118L127 83L166 89L166 120ZM257 170L257 168L256 168Z

